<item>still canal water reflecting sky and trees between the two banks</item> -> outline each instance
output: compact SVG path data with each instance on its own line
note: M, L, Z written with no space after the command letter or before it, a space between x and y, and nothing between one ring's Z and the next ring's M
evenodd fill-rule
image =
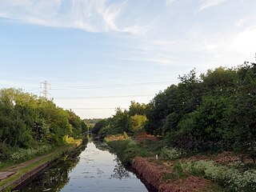
M145 183L145 182L144 182ZM127 170L104 142L89 142L73 154L53 162L18 191L131 192L155 191Z

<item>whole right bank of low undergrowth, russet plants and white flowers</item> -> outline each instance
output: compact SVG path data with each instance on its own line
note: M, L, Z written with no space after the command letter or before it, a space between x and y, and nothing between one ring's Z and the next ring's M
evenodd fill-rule
M184 190L185 186L193 186L194 189L191 191L256 190L255 163L249 159L241 162L241 158L231 152L197 154L167 146L165 140L151 136L110 136L106 138L106 142L123 163L134 165L135 162L135 169L141 170L140 174L144 178L159 180L161 185L163 182L166 183L164 186L159 184L158 190L161 187L162 191ZM152 174L158 175L158 178L152 179ZM204 185L198 186L198 182Z

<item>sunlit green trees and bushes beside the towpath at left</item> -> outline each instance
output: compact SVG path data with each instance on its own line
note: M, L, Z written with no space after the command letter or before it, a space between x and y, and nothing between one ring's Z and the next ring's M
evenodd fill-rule
M0 161L19 162L43 154L76 138L88 126L71 110L53 101L23 93L0 90Z

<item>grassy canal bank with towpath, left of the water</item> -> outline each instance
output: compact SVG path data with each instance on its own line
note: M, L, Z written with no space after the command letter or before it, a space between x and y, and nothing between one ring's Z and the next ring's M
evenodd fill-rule
M60 158L63 154L70 153L82 145L82 140L76 140L75 143L59 146L50 154L45 154L29 161L5 167L0 170L2 178L0 179L0 191L10 191L16 186L21 185L30 178L40 173L55 159Z

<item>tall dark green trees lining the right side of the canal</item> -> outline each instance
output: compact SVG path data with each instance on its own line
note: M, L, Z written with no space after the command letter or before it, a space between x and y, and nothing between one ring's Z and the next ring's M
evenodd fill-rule
M149 104L132 102L112 118L95 124L102 138L110 134L148 134L182 150L232 150L256 159L256 64L179 77L178 85L160 91Z

